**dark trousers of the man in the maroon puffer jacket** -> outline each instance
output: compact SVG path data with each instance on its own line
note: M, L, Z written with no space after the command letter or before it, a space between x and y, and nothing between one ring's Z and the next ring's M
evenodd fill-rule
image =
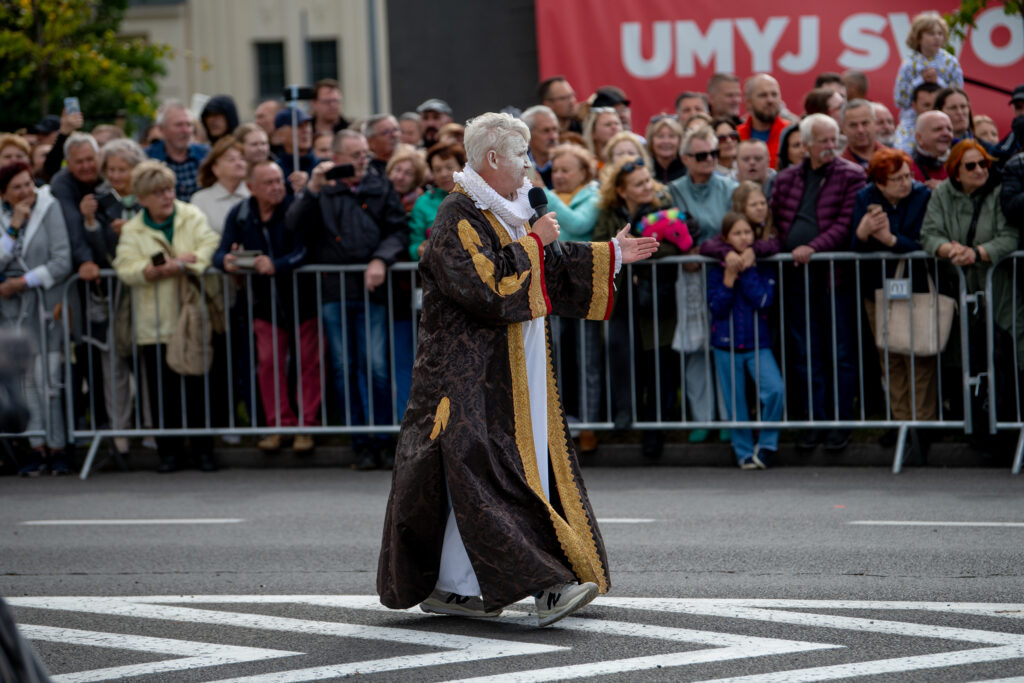
M826 266L786 267L786 356L794 371L798 413L810 420L852 420L857 395L857 326L854 288L834 288ZM804 282L804 269L810 267ZM805 292L807 292L805 300ZM833 317L833 296L836 315ZM810 323L810 336L807 325ZM835 325L836 352L833 354ZM808 356L808 354L810 354ZM836 381L833 380L835 371ZM810 373L810 375L808 375ZM811 388L807 382L810 377Z

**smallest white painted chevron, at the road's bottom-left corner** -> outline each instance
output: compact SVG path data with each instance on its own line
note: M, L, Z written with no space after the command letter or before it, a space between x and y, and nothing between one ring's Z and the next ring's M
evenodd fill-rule
M184 657L129 665L126 667L93 669L91 671L52 677L54 681L59 681L60 683L88 683L90 681L105 681L116 678L131 679L136 676L165 674L171 671L186 671L202 667L218 667L225 664L260 661L263 659L304 654L304 652L289 652L286 650L241 647L237 645L217 645L188 640L172 640L170 638L129 636L123 633L98 633L95 631L79 631L77 629L56 629L48 626L33 626L31 624L18 626L18 629L22 631L22 635L30 640L110 647L119 650L157 652L159 654L176 654Z

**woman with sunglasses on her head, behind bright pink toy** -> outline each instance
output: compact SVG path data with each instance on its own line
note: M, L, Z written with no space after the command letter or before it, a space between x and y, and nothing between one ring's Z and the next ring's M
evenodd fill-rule
M659 212L674 209L672 197L665 185L651 178L650 169L641 160L623 160L610 165L602 174L598 197L601 212L594 227L594 241L610 240L624 222L629 222L633 234L642 234ZM671 211L668 211L671 213ZM678 217L676 218L678 221ZM678 227L678 225L677 225ZM682 250L671 238L660 240L653 259L679 256ZM658 398L654 391L654 359L660 369L660 419L673 420L679 387L679 356L672 351L672 335L676 327L676 266L663 267L653 276L653 266L623 268L615 281L617 294L612 304L608 367L620 369L635 366L637 377L637 417L641 421L658 418ZM629 278L632 276L632 282ZM656 282L656 287L654 284ZM627 285L632 291L627 292ZM632 308L631 308L632 307ZM635 357L630 355L630 317L632 310ZM655 312L657 336L654 336ZM674 380L673 378L677 378ZM626 429L633 422L633 395L628 380L611 384L611 410L616 429ZM678 410L678 408L676 408ZM665 443L660 431L643 433L643 455L658 458Z

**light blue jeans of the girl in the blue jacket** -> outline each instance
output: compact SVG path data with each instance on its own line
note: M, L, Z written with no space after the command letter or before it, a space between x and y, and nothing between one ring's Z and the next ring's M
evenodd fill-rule
M728 349L712 348L715 352L715 367L718 369L718 385L725 399L726 419L745 422L746 412L746 378L755 381L758 398L762 403L761 420L776 422L782 417L782 399L785 396L785 385L775 364L775 356L770 348L754 351L735 351L730 357ZM735 395L733 395L735 389ZM736 414L732 415L733 403ZM732 450L736 460L741 461L754 455L754 435L750 429L731 430ZM762 429L758 437L758 447L762 451L778 450L778 430Z

